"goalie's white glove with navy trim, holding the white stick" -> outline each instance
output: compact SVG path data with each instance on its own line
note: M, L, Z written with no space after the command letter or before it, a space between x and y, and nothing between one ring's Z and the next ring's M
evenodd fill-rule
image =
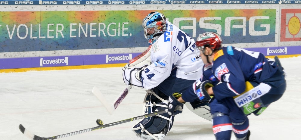
M141 67L141 68L124 67L123 73L122 73L123 82L126 85L143 87L143 80L141 77L141 72L144 70L144 67Z

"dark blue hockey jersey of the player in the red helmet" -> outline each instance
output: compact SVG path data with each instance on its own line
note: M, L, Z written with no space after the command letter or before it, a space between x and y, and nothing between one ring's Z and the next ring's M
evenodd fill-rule
M222 47L212 62L212 72L217 81L221 81L213 87L215 98L221 100L239 95L245 91L246 81L260 83L270 78L277 69L260 52Z

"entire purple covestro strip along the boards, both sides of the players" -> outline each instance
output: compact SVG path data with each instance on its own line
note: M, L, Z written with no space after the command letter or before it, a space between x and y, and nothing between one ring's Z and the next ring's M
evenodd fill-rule
M301 55L301 46L246 48L249 51L259 51L268 56L275 55ZM0 70L22 68L46 68L46 67L72 67L103 64L123 64L135 58L140 53L131 54L99 54L77 56L54 56L32 58L2 58Z

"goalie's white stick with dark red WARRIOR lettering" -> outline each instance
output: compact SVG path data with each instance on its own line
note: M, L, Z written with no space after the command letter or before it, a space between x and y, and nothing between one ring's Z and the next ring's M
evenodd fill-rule
M106 109L109 111L109 113L112 115L113 112L116 110L116 108L119 106L119 104L123 101L123 99L126 97L126 95L129 93L130 89L132 88L132 85L127 85L121 93L118 95L118 97L115 99L113 104L109 104L107 100L104 98L100 90L98 90L97 87L93 87L92 93L98 98L99 101L106 107Z

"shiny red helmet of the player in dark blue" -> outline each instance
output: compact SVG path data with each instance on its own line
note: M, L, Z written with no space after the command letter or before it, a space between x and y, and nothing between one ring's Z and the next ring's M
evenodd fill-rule
M222 47L222 38L217 33L206 32L197 38L195 45L203 53L206 47L211 48L213 51L219 50Z

